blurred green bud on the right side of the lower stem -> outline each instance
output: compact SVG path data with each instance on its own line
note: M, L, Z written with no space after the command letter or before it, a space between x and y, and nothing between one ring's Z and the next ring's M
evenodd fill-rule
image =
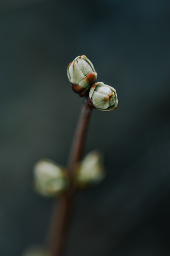
M95 185L103 180L104 176L103 155L96 150L87 154L84 160L75 166L76 186L80 188Z

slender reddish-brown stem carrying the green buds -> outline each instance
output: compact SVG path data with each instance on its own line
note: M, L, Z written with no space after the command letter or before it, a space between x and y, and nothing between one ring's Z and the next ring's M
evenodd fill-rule
M74 165L82 158L91 112L92 108L88 106L87 98L85 97L83 98L80 117L68 159L70 187L59 200L55 200L53 209L49 235L47 238L47 248L49 249L51 256L64 255L76 194L76 189L72 182Z

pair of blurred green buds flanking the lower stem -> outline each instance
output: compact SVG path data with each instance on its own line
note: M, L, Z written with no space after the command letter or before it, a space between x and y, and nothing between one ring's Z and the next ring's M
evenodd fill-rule
M34 166L34 188L42 196L55 197L69 187L66 168L49 159L42 159ZM96 150L74 166L74 186L83 189L99 183L105 176L102 154Z

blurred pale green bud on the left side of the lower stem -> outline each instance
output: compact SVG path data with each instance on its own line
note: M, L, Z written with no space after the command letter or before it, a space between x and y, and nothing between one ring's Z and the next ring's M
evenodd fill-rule
M43 196L57 196L66 190L68 181L66 170L57 163L42 159L34 168L34 187Z

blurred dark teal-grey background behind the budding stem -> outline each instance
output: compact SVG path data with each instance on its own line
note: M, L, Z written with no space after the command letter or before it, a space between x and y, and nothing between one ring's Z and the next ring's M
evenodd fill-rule
M167 0L0 1L0 255L43 244L53 201L32 190L41 158L66 164L81 98L66 67L85 54L117 90L94 110L85 152L107 177L82 192L66 256L170 255Z

